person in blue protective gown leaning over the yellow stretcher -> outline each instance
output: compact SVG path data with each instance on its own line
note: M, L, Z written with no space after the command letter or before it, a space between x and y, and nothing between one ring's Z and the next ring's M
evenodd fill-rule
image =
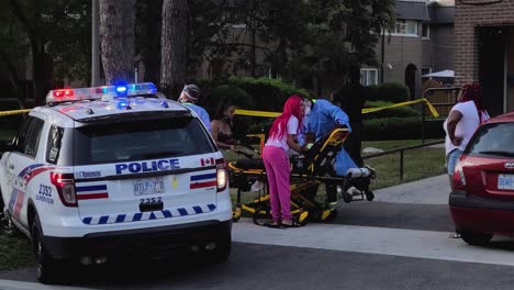
M351 132L348 115L337 105L334 105L328 100L313 99L304 100L305 118L303 121L303 132L314 132L316 141L332 132L335 127L347 127ZM299 138L300 145L304 144L304 136ZM349 168L355 168L357 165L350 158L348 153L342 146L337 153L334 164L334 170L337 176L346 176ZM327 202L335 205L337 193L335 188L326 189Z

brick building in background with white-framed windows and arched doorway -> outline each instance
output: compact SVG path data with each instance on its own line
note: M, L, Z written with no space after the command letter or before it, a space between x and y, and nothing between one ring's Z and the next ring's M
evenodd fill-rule
M379 67L364 67L361 82L400 82L420 98L422 76L454 69L454 0L396 0L395 23L379 41Z

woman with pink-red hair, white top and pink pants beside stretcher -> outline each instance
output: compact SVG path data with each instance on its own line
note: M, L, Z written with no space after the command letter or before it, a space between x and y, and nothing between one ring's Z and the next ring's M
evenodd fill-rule
M271 227L293 227L298 223L291 217L291 190L290 190L290 164L289 148L302 153L294 141L302 127L303 99L291 96L283 105L283 112L275 120L269 130L268 141L262 149L262 160L266 167L269 185L269 199L271 203Z

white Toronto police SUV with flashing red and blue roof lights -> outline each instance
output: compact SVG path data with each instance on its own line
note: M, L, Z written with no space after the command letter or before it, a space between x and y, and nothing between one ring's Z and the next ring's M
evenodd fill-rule
M223 155L192 111L156 92L149 82L49 91L8 145L4 214L33 241L40 281L65 261L228 257Z

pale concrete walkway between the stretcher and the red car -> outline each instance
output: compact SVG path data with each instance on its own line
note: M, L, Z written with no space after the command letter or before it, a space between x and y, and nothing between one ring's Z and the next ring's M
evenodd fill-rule
M394 203L448 204L447 175L435 176L375 191L375 201Z

